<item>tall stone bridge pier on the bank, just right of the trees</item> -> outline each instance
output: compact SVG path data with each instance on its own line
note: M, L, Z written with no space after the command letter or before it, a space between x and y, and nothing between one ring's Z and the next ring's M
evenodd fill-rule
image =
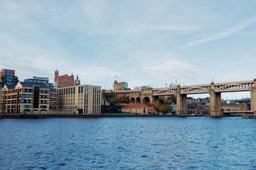
M181 94L181 86L177 86L177 115L187 116L187 95Z

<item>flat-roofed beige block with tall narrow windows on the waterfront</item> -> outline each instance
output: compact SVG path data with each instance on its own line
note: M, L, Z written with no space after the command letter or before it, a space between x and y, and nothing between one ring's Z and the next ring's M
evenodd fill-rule
M99 114L102 102L101 87L77 85L57 89L59 110L76 114Z

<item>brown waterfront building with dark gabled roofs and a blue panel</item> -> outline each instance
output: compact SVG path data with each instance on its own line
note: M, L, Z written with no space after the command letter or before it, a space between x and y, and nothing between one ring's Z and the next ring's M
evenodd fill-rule
M44 83L19 82L3 87L3 113L48 112L49 87Z

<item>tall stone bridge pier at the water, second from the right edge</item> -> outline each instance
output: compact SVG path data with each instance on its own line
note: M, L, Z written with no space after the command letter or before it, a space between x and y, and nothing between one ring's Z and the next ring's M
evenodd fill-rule
M210 117L211 118L222 118L222 105L221 105L221 93L216 93L214 89L214 83L211 84L210 91L211 98L211 108L210 108Z

